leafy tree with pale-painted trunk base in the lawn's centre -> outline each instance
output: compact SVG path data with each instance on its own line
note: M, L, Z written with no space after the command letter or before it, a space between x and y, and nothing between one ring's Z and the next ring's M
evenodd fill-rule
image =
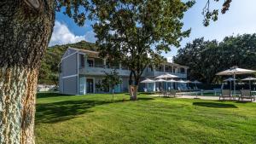
M100 54L110 61L128 66L131 100L137 100L137 88L143 70L158 64L161 52L179 46L183 14L194 1L181 0L102 0L96 2L94 25Z

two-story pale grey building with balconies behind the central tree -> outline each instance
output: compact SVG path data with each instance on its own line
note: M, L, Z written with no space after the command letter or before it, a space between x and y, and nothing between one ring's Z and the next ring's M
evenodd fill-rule
M96 84L102 80L105 72L116 69L122 78L122 84L115 87L115 92L128 92L130 71L120 63L108 64L106 59L98 56L98 52L68 48L61 58L59 74L59 90L62 94L85 95L99 93ZM143 72L143 78L155 78L164 73L177 75L178 78L187 78L187 66L166 62L160 66L148 66ZM142 78L142 79L143 79ZM143 88L144 84L140 86ZM157 84L151 84L154 91Z

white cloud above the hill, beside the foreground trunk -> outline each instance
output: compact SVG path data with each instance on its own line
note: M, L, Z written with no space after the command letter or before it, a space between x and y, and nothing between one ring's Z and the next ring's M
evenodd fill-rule
M52 33L49 41L49 46L56 44L61 45L67 43L77 43L82 40L94 43L96 41L95 33L90 31L86 32L83 36L76 36L73 32L70 32L65 24L55 21L54 32Z

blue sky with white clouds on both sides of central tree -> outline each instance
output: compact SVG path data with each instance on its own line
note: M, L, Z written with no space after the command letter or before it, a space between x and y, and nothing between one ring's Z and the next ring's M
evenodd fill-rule
M203 16L201 11L207 0L197 0L195 5L189 9L183 17L183 29L192 31L190 36L184 38L181 42L182 47L191 42L196 37L205 37L205 39L217 39L221 41L225 36L237 35L243 33L256 32L256 0L233 0L230 10L226 14L219 14L218 21L211 22L210 26L203 26ZM211 3L211 8L221 8L221 4ZM84 26L77 26L67 15L57 13L55 20L55 28L49 45L76 43L81 40L95 42L95 34L91 28L91 21L86 21ZM172 58L177 54L177 48L163 54L166 58Z

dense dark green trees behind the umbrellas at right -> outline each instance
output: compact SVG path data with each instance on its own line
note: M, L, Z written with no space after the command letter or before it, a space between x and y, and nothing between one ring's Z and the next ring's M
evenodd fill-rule
M174 61L189 66L191 79L207 84L219 82L215 74L231 66L256 69L256 34L224 37L221 42L196 38L178 50Z

